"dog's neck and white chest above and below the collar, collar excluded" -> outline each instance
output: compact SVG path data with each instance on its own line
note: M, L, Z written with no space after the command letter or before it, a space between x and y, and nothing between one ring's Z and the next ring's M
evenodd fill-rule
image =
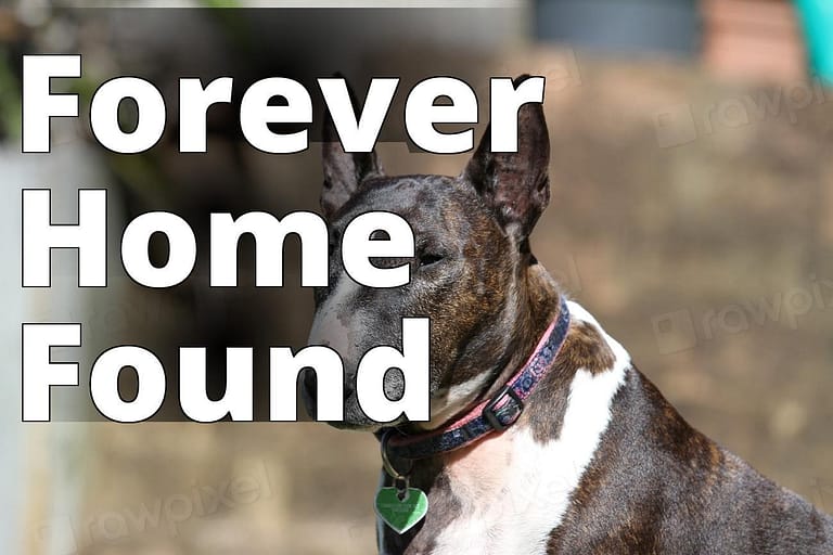
M543 268L530 266L524 287L526 310L518 314L512 341L517 352L487 395L523 364L558 317L560 292ZM411 485L428 491L432 504L425 533L386 534L387 553L445 555L488 541L500 545L500 552L528 553L513 543L523 534L511 529L534 530L536 538L546 540L561 522L629 367L621 346L580 306L568 305L571 326L564 344L517 422L501 434L414 461ZM529 513L527 507L539 511Z

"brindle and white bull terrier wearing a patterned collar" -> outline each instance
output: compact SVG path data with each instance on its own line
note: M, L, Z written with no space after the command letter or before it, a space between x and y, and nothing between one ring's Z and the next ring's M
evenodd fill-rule
M309 341L344 358L333 425L382 437L381 487L407 478L427 494L411 529L377 524L380 553L833 554L833 518L693 429L530 251L550 197L541 105L520 108L516 153L492 153L489 134L459 177L387 177L324 124L332 248L370 210L415 237L399 288L361 287L331 261ZM380 424L358 405L356 366L400 344L405 317L431 319L431 421ZM302 390L315 414L313 373ZM385 392L401 391L389 372Z

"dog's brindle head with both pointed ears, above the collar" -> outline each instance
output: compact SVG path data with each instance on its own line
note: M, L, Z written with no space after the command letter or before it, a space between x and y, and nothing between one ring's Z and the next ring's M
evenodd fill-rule
M541 105L518 111L518 152L492 153L487 129L458 177L388 177L375 152L344 152L329 115L323 141L330 286L316 291L309 343L332 347L344 361L345 420L334 425L381 426L359 408L356 370L370 348L400 347L401 319L409 317L431 319L431 417L439 425L483 396L515 360L516 334L527 325L528 273L537 264L528 236L550 197ZM410 263L410 283L401 287L361 286L342 267L345 227L376 210L401 216L413 230L415 256L388 262ZM389 371L384 387L388 398L400 397L401 374ZM315 374L307 372L303 392L312 414L315 391Z

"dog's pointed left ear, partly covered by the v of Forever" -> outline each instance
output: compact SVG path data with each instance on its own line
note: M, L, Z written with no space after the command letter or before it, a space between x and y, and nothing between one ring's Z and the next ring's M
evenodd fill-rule
M334 77L343 77L335 74ZM353 111L358 114L360 107L353 88L347 83ZM330 111L324 111L321 151L323 156L324 183L321 191L321 209L329 220L359 189L362 181L373 176L381 176L382 167L373 152L348 153L344 151Z

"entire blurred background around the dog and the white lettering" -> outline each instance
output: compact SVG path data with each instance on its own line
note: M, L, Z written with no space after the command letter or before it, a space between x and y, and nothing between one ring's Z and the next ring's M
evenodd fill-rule
M285 287L252 286L244 244L241 286L209 289L204 238L210 211L317 210L320 145L262 154L242 140L231 105L209 111L208 154L179 154L168 102L156 147L108 153L84 116L95 87L119 75L144 77L174 100L179 77L233 75L235 102L269 76L315 90L316 77L339 70L360 95L370 77L398 76L383 163L390 173L447 175L467 156L411 147L401 91L434 75L465 79L484 100L479 137L489 76L546 76L553 194L533 236L538 258L693 425L833 512L833 4L0 4L0 225L13 261L0 274L2 553L375 552L371 436L313 423L179 422L179 346L209 347L215 398L225 347L255 347L262 418L268 347L306 345L312 301L298 286L297 245L287 243ZM84 54L81 79L54 82L81 95L82 117L53 119L51 154L21 155L21 55L57 52ZM53 286L22 289L20 190L51 188L53 221L69 223L76 190L103 186L108 287L77 288L75 254L57 251ZM194 273L164 291L134 285L118 260L125 222L157 209L182 216L201 237ZM151 246L164 256L165 245ZM80 361L82 387L55 388L56 422L22 425L20 324L41 321L84 323L84 347L53 353ZM98 353L124 343L166 363L171 402L159 422L97 422L84 380ZM124 374L129 395L136 384Z

